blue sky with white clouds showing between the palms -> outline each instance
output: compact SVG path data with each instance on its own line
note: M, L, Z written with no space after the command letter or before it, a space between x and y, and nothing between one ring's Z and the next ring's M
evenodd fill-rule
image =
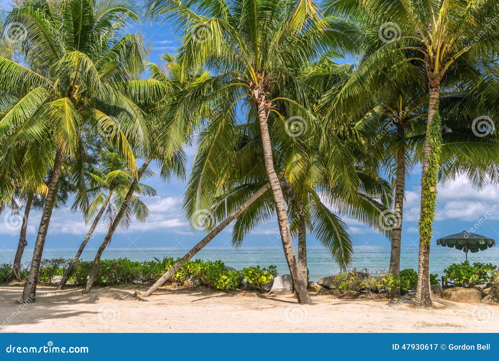
M4 3L0 0L0 4ZM168 23L143 23L130 26L129 32L139 28L150 39L153 50L149 61L158 62L164 52L174 53L179 41L174 29ZM189 161L195 154L194 148L188 148ZM155 168L153 166L153 168ZM156 171L159 175L159 170ZM150 217L146 223L133 222L130 228L123 231L118 228L112 239L112 248L190 248L204 236L202 232L194 233L183 219L181 206L185 183L172 180L165 184L159 176L144 181L157 190L157 196L143 199L149 207ZM417 224L420 208L420 171L408 174L406 181L406 200L404 205L404 222L402 245L416 246L419 243ZM52 214L45 248L76 249L86 235L89 225L85 225L81 214L70 211L71 199L63 209L56 209ZM438 187L437 217L434 225L433 243L439 237L458 233L463 230L472 231L491 238L499 237L499 189L489 185L477 191L464 178L443 187ZM0 214L0 249L14 249L18 242L18 229L7 212ZM390 245L389 240L370 227L353 219L344 219L349 226L354 245ZM40 212L31 212L27 229L27 248L32 248L36 231L40 222ZM12 229L13 228L13 229ZM98 248L105 236L105 227L94 233L89 246ZM229 226L212 242L214 247L231 246L231 230ZM314 246L317 241L310 235L307 243ZM243 242L244 247L280 246L279 232L275 219L253 231Z

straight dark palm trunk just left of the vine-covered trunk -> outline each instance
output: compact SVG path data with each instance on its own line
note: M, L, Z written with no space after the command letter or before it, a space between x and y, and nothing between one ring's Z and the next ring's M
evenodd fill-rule
M394 225L392 229L392 250L390 254L390 273L398 281L400 279L400 245L402 242L402 216L405 193L405 128L397 124L397 135L400 147L397 148L397 174L395 178ZM390 290L390 297L400 298L400 287Z

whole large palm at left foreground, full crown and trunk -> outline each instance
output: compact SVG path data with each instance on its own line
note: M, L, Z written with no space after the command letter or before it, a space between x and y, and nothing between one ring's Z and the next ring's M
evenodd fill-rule
M148 143L140 109L116 83L142 71L135 35L117 38L130 19L138 19L131 1L63 1L50 10L44 1L27 1L9 13L6 25L22 24L22 50L35 72L0 58L0 92L12 94L0 120L0 135L14 127L8 143L30 140L51 163L45 206L21 302L34 302L36 281L62 164L78 148L82 132L99 133L122 152L136 172L129 141ZM48 120L48 122L47 122Z

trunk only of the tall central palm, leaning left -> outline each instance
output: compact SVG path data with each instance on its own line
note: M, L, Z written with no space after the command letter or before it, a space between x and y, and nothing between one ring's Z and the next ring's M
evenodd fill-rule
M282 247L284 249L284 255L286 256L287 265L289 267L289 273L291 274L291 279L293 281L294 288L296 290L296 296L298 298L298 303L300 304L311 304L312 300L307 290L306 279L301 277L300 269L298 267L298 262L296 260L296 253L293 247L293 240L291 238L291 232L289 230L289 222L286 214L286 205L284 202L284 196L282 194L282 189L277 178L277 174L274 170L274 163L272 157L272 144L270 142L270 135L268 133L267 124L267 114L265 106L265 92L263 89L257 87L254 89L254 99L258 111L258 121L260 123L261 132L261 143L263 146L263 159L265 162L265 170L268 177L268 182L272 189L272 195L275 203L275 210L277 213L277 222L279 224L279 230L281 235Z

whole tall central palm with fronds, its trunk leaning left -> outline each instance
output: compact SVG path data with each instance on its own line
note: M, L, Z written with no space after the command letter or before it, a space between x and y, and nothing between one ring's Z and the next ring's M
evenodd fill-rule
M282 100L284 86L300 88L293 76L294 69L315 60L329 47L348 48L351 45L347 36L349 26L338 18L324 19L311 0L244 0L231 4L197 0L188 6L176 0L155 0L150 1L150 5L153 16L165 14L180 26L187 26L178 55L184 72L206 66L218 74L205 82L205 89L211 90L198 99L188 121L199 122L208 104L212 114L225 119L226 123L234 122L238 107L254 114L298 302L310 303L306 282L299 273L284 196L274 168L268 122L277 117L275 102ZM310 104L306 97L285 100L298 104L299 113L295 115L309 116ZM206 204L198 208L206 208Z

